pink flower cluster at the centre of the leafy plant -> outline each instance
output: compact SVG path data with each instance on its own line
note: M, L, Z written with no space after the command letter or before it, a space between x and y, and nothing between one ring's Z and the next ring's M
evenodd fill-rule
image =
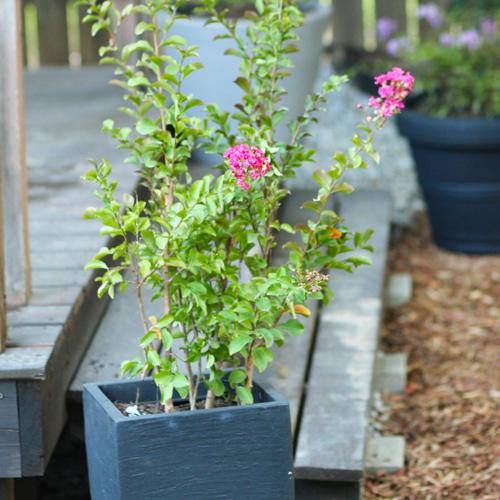
M229 158L229 168L233 177L236 177L236 185L246 191L250 188L249 180L258 179L271 170L269 158L264 156L264 151L252 146L250 149L245 144L239 144L234 148L228 148L224 158Z

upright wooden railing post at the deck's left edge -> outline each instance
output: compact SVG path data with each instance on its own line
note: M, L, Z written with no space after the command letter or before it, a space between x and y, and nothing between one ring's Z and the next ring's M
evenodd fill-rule
M25 304L31 278L24 143L21 0L0 1L0 164L7 305Z

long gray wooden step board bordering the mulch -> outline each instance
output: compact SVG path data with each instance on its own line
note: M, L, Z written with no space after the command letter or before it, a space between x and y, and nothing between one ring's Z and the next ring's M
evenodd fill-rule
M299 479L359 481L363 476L371 385L390 229L385 193L356 192L340 215L354 231L375 230L373 266L332 272L335 301L318 324L295 456Z

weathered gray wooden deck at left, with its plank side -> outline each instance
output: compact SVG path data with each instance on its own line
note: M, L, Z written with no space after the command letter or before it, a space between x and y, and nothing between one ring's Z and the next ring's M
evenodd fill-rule
M79 178L89 168L86 157L106 157L119 191L137 182L123 153L100 132L106 118L126 120L116 111L121 93L106 85L110 76L97 67L25 75L33 294L27 306L7 313L0 380L19 415L17 426L1 420L0 477L43 474L66 420L67 388L106 306L83 271L106 239L98 224L83 220L93 187Z

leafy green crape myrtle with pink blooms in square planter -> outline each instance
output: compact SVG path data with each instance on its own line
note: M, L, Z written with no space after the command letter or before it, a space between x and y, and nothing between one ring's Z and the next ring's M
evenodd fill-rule
M296 1L256 0L255 11L245 15L250 23L242 38L236 34L236 21L216 8L216 0L201 0L199 9L207 22L222 24L225 37L235 42L227 52L239 59L236 84L244 91L231 115L236 129L231 128L228 112L182 92L183 81L196 78L192 73L202 67L196 47L169 36L176 19L185 17L179 13L185 0L144 0L122 11L110 1L79 3L88 7L85 21L93 23L93 33L109 34L101 62L116 66L112 83L124 89L123 111L134 120L134 129L107 120L104 130L127 150L127 163L140 172L149 193L146 200L128 194L117 200L117 184L106 160L93 162L84 176L97 185L101 200L101 206L88 208L84 217L100 220L101 234L119 241L102 248L86 268L103 269L97 278L99 296L114 297L117 287L122 292L134 287L143 323L144 357L125 361L122 371L130 376L152 372L166 412L174 411L174 389L189 397L195 409L200 383L207 388L206 408L214 406L216 397L250 404L255 368L266 369L273 359L273 344L281 346L302 333L296 316L308 314L305 300L327 303L332 297L327 270L350 272L352 266L370 263L364 254L345 255L371 250L372 231L352 235L328 200L334 193L353 191L341 177L347 169L367 168L362 153L378 161L372 138L402 107L412 79L403 72L389 75L381 83L392 91L359 106L364 120L352 148L335 152L327 170L316 169L318 195L303 206L312 218L291 227L278 221L278 208L290 194L284 182L304 162L313 161L314 151L302 141L305 127L322 110L327 95L346 80L332 76L320 92L307 98L303 114L288 124L290 140L276 140L276 125L286 112L280 99L292 66L288 55L298 50L294 30L303 23ZM160 12L168 16L161 24ZM120 47L115 31L134 13L142 18L136 26L140 39ZM203 118L193 116L193 109ZM207 173L193 181L188 161L200 147L220 159L218 175ZM279 232L298 233L301 243L284 245L288 262L275 267L271 257ZM108 256L115 267L106 264ZM243 267L250 279L242 278ZM154 291L153 302L161 311L157 317L146 316L144 287ZM157 341L161 351L155 348ZM181 361L187 375L181 373Z

